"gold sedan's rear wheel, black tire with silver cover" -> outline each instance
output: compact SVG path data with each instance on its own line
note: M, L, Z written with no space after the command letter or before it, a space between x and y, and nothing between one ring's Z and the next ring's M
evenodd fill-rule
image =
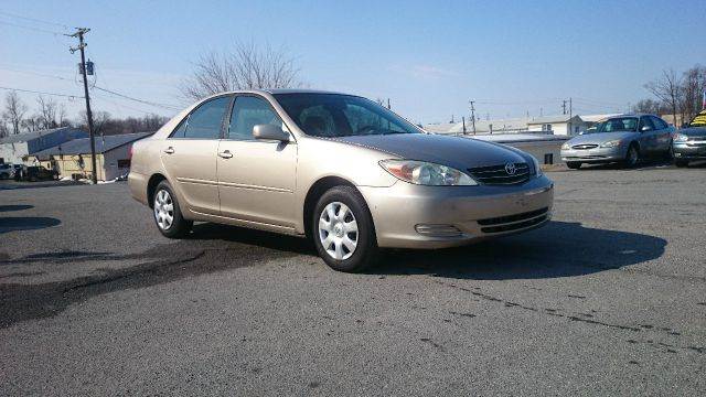
M193 222L184 219L176 195L167 181L160 182L154 189L152 210L157 228L164 237L183 237L193 226Z

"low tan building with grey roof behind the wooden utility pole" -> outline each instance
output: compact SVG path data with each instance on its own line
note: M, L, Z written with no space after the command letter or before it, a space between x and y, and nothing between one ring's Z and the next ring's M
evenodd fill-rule
M130 171L130 148L137 140L153 132L124 133L96 137L96 176L99 181L111 181ZM89 179L93 174L90 139L75 139L53 148L28 155L25 163L39 163L58 171L61 178L79 175Z

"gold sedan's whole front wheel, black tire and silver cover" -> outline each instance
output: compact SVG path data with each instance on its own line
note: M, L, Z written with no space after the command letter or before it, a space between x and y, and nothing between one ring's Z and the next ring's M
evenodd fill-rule
M378 258L373 217L361 193L352 186L335 186L317 203L311 236L319 256L332 269L359 272Z

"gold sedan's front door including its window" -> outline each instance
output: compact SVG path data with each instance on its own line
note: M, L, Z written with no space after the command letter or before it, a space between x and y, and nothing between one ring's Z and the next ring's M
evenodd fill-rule
M256 140L253 127L287 127L267 99L237 96L218 146L217 170L221 213L224 216L269 225L295 225L293 191L297 143Z

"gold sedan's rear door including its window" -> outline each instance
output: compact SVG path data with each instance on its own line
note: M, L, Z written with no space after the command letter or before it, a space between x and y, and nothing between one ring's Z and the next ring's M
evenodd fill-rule
M232 99L226 95L201 104L163 142L164 169L192 211L220 213L216 153Z

